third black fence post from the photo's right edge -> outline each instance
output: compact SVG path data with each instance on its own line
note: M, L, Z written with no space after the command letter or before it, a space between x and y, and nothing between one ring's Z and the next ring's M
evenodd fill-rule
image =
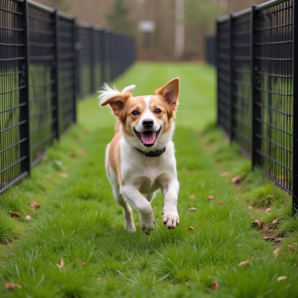
M230 77L230 86L229 86L229 97L230 97L230 142L235 137L233 128L236 127L236 119L234 118L234 101L233 101L233 17L232 14L229 17L229 58L230 58L230 69L229 69L229 77Z

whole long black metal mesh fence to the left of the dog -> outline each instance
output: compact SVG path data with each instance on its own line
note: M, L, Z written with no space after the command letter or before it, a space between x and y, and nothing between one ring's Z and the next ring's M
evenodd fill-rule
M76 120L76 97L134 62L134 39L31 0L0 0L0 193ZM78 65L78 67L76 67Z

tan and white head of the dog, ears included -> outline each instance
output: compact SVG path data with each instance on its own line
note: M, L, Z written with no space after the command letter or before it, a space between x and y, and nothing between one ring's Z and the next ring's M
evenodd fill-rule
M111 106L132 146L151 151L164 147L172 133L178 95L179 78L175 78L157 89L155 95L133 97L131 93L120 93L101 105Z

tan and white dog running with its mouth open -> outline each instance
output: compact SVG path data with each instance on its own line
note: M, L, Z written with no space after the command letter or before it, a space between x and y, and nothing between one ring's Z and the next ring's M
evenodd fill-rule
M99 91L100 105L110 105L117 117L116 133L106 148L105 169L123 208L125 229L136 231L133 206L142 230L150 235L155 224L151 202L159 188L164 197L164 225L168 229L179 225L179 182L172 142L179 78L157 89L155 95L133 97L134 88L127 86L120 92L104 83Z

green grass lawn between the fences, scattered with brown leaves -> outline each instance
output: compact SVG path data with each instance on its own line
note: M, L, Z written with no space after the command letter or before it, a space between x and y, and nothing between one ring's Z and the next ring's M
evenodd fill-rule
M298 220L290 218L289 204L280 204L288 196L259 170L249 172L237 146L209 125L215 121L214 69L136 63L115 83L119 89L134 83L134 94L145 95L177 76L180 225L164 226L158 193L152 234L141 230L136 211L136 232L124 230L104 169L115 119L90 97L78 105L78 124L48 149L31 179L0 197L0 297L298 297L298 248L288 247L297 242ZM243 183L235 187L229 178L241 173ZM264 212L268 205L272 210ZM11 217L11 210L21 216ZM277 231L286 236L278 244L250 225L277 217ZM245 260L247 266L238 266ZM6 289L7 283L21 288Z

